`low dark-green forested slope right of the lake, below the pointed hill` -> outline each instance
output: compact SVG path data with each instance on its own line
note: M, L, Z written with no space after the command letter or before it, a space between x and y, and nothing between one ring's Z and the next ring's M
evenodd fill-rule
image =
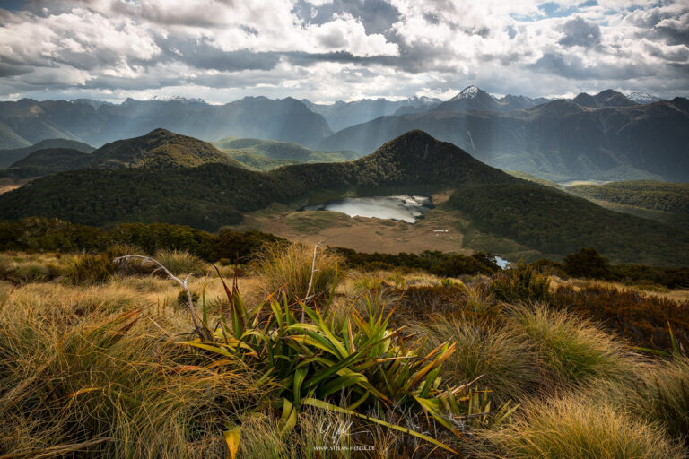
M596 247L615 261L689 264L689 233L612 212L550 186L459 186L448 205L467 216L467 231L510 238L546 256Z

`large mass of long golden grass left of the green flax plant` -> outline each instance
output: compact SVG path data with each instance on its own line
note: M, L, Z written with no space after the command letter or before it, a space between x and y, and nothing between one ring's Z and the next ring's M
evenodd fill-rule
M224 422L263 394L240 362L222 374L198 366L126 304L83 314L45 291L11 299L0 311L0 455L224 457Z

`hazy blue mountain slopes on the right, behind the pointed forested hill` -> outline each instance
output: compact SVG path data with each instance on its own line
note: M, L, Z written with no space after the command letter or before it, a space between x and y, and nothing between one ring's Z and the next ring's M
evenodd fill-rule
M322 150L372 152L412 129L454 143L501 169L550 179L689 180L689 100L584 108L554 100L510 112L380 117L324 139Z

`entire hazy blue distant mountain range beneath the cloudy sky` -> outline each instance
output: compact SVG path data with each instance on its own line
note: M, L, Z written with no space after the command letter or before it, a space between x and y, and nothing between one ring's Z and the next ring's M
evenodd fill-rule
M630 97L644 103L612 90L581 93L571 100L497 98L475 86L447 101L421 97L314 104L256 97L211 105L183 98L121 104L19 100L0 102L0 144L25 148L62 137L102 145L162 127L209 142L228 135L254 137L362 156L397 135L422 129L494 167L558 181L688 180L687 100L656 100L641 93ZM12 154L21 156L4 151L7 158ZM253 152L233 154L256 169L296 161L262 162ZM2 156L0 152L0 161ZM320 155L324 160L337 157ZM4 167L12 162L5 161Z

